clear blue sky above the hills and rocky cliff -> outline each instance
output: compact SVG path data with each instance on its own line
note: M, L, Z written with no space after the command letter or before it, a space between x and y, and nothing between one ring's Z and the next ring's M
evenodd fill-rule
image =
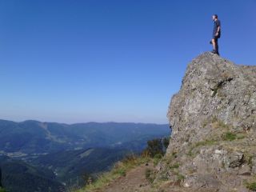
M0 0L0 118L167 123L186 66L255 65L255 0Z

